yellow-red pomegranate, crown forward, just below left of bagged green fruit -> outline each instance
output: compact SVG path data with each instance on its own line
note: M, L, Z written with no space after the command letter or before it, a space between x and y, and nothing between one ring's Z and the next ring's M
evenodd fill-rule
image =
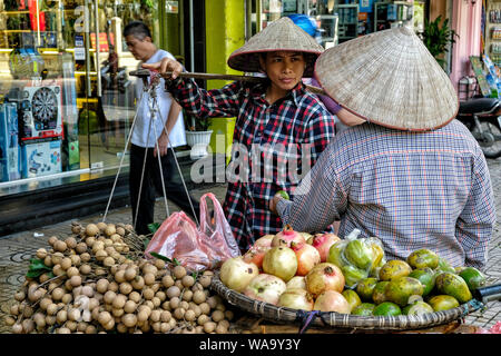
M313 267L305 280L306 290L315 298L325 290L343 291L345 283L340 267L330 263L322 263Z

